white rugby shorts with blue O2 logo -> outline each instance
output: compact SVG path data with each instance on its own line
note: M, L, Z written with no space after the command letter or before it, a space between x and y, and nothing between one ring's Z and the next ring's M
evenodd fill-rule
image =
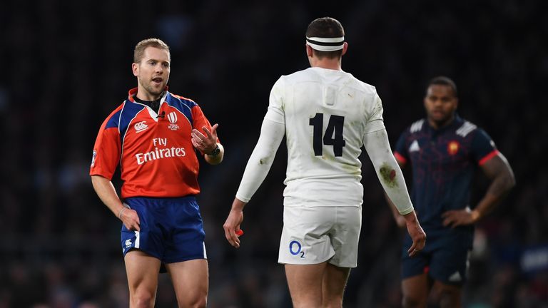
M338 267L357 266L362 207L288 207L278 263L313 265L328 261Z

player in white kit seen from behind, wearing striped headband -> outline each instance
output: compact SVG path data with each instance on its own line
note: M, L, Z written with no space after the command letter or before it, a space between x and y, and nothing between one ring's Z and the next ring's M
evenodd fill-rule
M285 135L288 168L278 262L285 265L294 307L342 307L350 268L357 266L362 146L406 219L410 255L425 246L425 232L388 143L377 91L342 71L344 35L340 22L330 17L308 26L311 67L274 84L258 143L223 225L228 242L239 247L243 207L263 183Z

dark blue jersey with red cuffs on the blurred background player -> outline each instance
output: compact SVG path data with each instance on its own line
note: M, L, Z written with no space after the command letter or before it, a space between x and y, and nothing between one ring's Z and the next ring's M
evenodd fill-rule
M407 128L395 147L395 157L411 163L411 200L425 229L442 229L442 213L467 207L470 185L477 166L497 155L489 135L455 116L444 128L435 129L427 119Z

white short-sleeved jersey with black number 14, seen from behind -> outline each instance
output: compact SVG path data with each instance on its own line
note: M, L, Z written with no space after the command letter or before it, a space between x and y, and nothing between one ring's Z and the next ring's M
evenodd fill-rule
M344 71L307 68L278 79L265 118L285 125L284 205L362 204L360 148L366 133L385 128L374 86Z

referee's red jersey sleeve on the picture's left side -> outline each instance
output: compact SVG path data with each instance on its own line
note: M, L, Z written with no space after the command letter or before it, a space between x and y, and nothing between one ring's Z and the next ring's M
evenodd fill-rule
M93 145L89 175L101 175L111 180L120 163L121 140L118 125L114 125L113 120L109 118L101 125Z

